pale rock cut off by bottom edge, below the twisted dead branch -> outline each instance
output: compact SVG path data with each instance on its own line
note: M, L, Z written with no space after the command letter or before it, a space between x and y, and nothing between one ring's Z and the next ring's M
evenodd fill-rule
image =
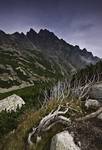
M50 150L80 150L80 148L74 143L72 135L64 131L52 138Z

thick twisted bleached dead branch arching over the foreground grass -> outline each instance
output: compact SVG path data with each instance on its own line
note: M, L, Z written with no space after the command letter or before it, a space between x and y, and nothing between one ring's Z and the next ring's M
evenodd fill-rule
M64 117L64 115L68 112L68 108L66 108L64 111L60 111L60 109L61 106L59 105L56 111L52 111L47 116L42 118L38 127L34 128L34 130L31 133L29 133L28 144L33 144L33 142L31 141L32 136L36 136L36 139L38 139L38 137L40 137L41 139L40 135L43 132L46 132L53 128L53 126L57 123L60 123L62 125L69 125L71 123L69 118Z

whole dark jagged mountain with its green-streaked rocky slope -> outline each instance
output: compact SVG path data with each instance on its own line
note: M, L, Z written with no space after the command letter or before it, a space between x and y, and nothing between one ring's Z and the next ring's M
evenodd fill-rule
M0 31L0 91L26 87L36 81L55 81L99 58L72 46L48 30L25 35Z

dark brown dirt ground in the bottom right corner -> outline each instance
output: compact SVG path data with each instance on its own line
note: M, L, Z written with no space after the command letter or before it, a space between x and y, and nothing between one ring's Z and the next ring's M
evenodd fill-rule
M75 143L81 143L81 150L102 150L102 121L92 119L90 121L73 123L68 131L74 134Z

